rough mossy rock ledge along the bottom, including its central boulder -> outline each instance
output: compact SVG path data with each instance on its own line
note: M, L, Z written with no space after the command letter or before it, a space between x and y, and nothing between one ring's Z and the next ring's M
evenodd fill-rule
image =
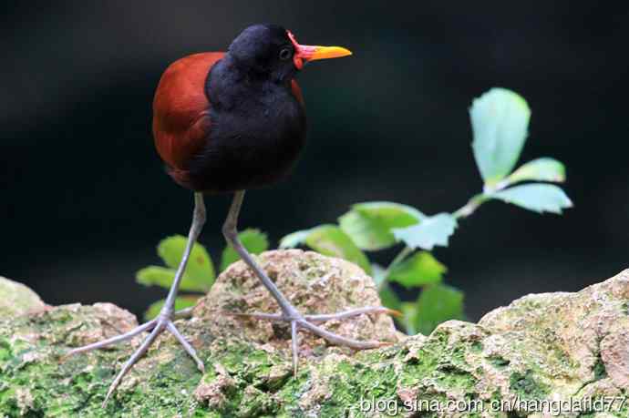
M377 302L370 279L345 261L300 250L260 260L304 312ZM629 416L629 270L577 293L523 297L478 324L448 321L428 337L398 340L385 316L331 323L345 335L397 342L349 352L303 333L296 377L284 326L225 314L276 309L249 270L232 265L191 320L178 322L205 374L164 335L106 409L109 382L141 340L62 355L129 330L129 312L98 303L3 316L0 416Z

